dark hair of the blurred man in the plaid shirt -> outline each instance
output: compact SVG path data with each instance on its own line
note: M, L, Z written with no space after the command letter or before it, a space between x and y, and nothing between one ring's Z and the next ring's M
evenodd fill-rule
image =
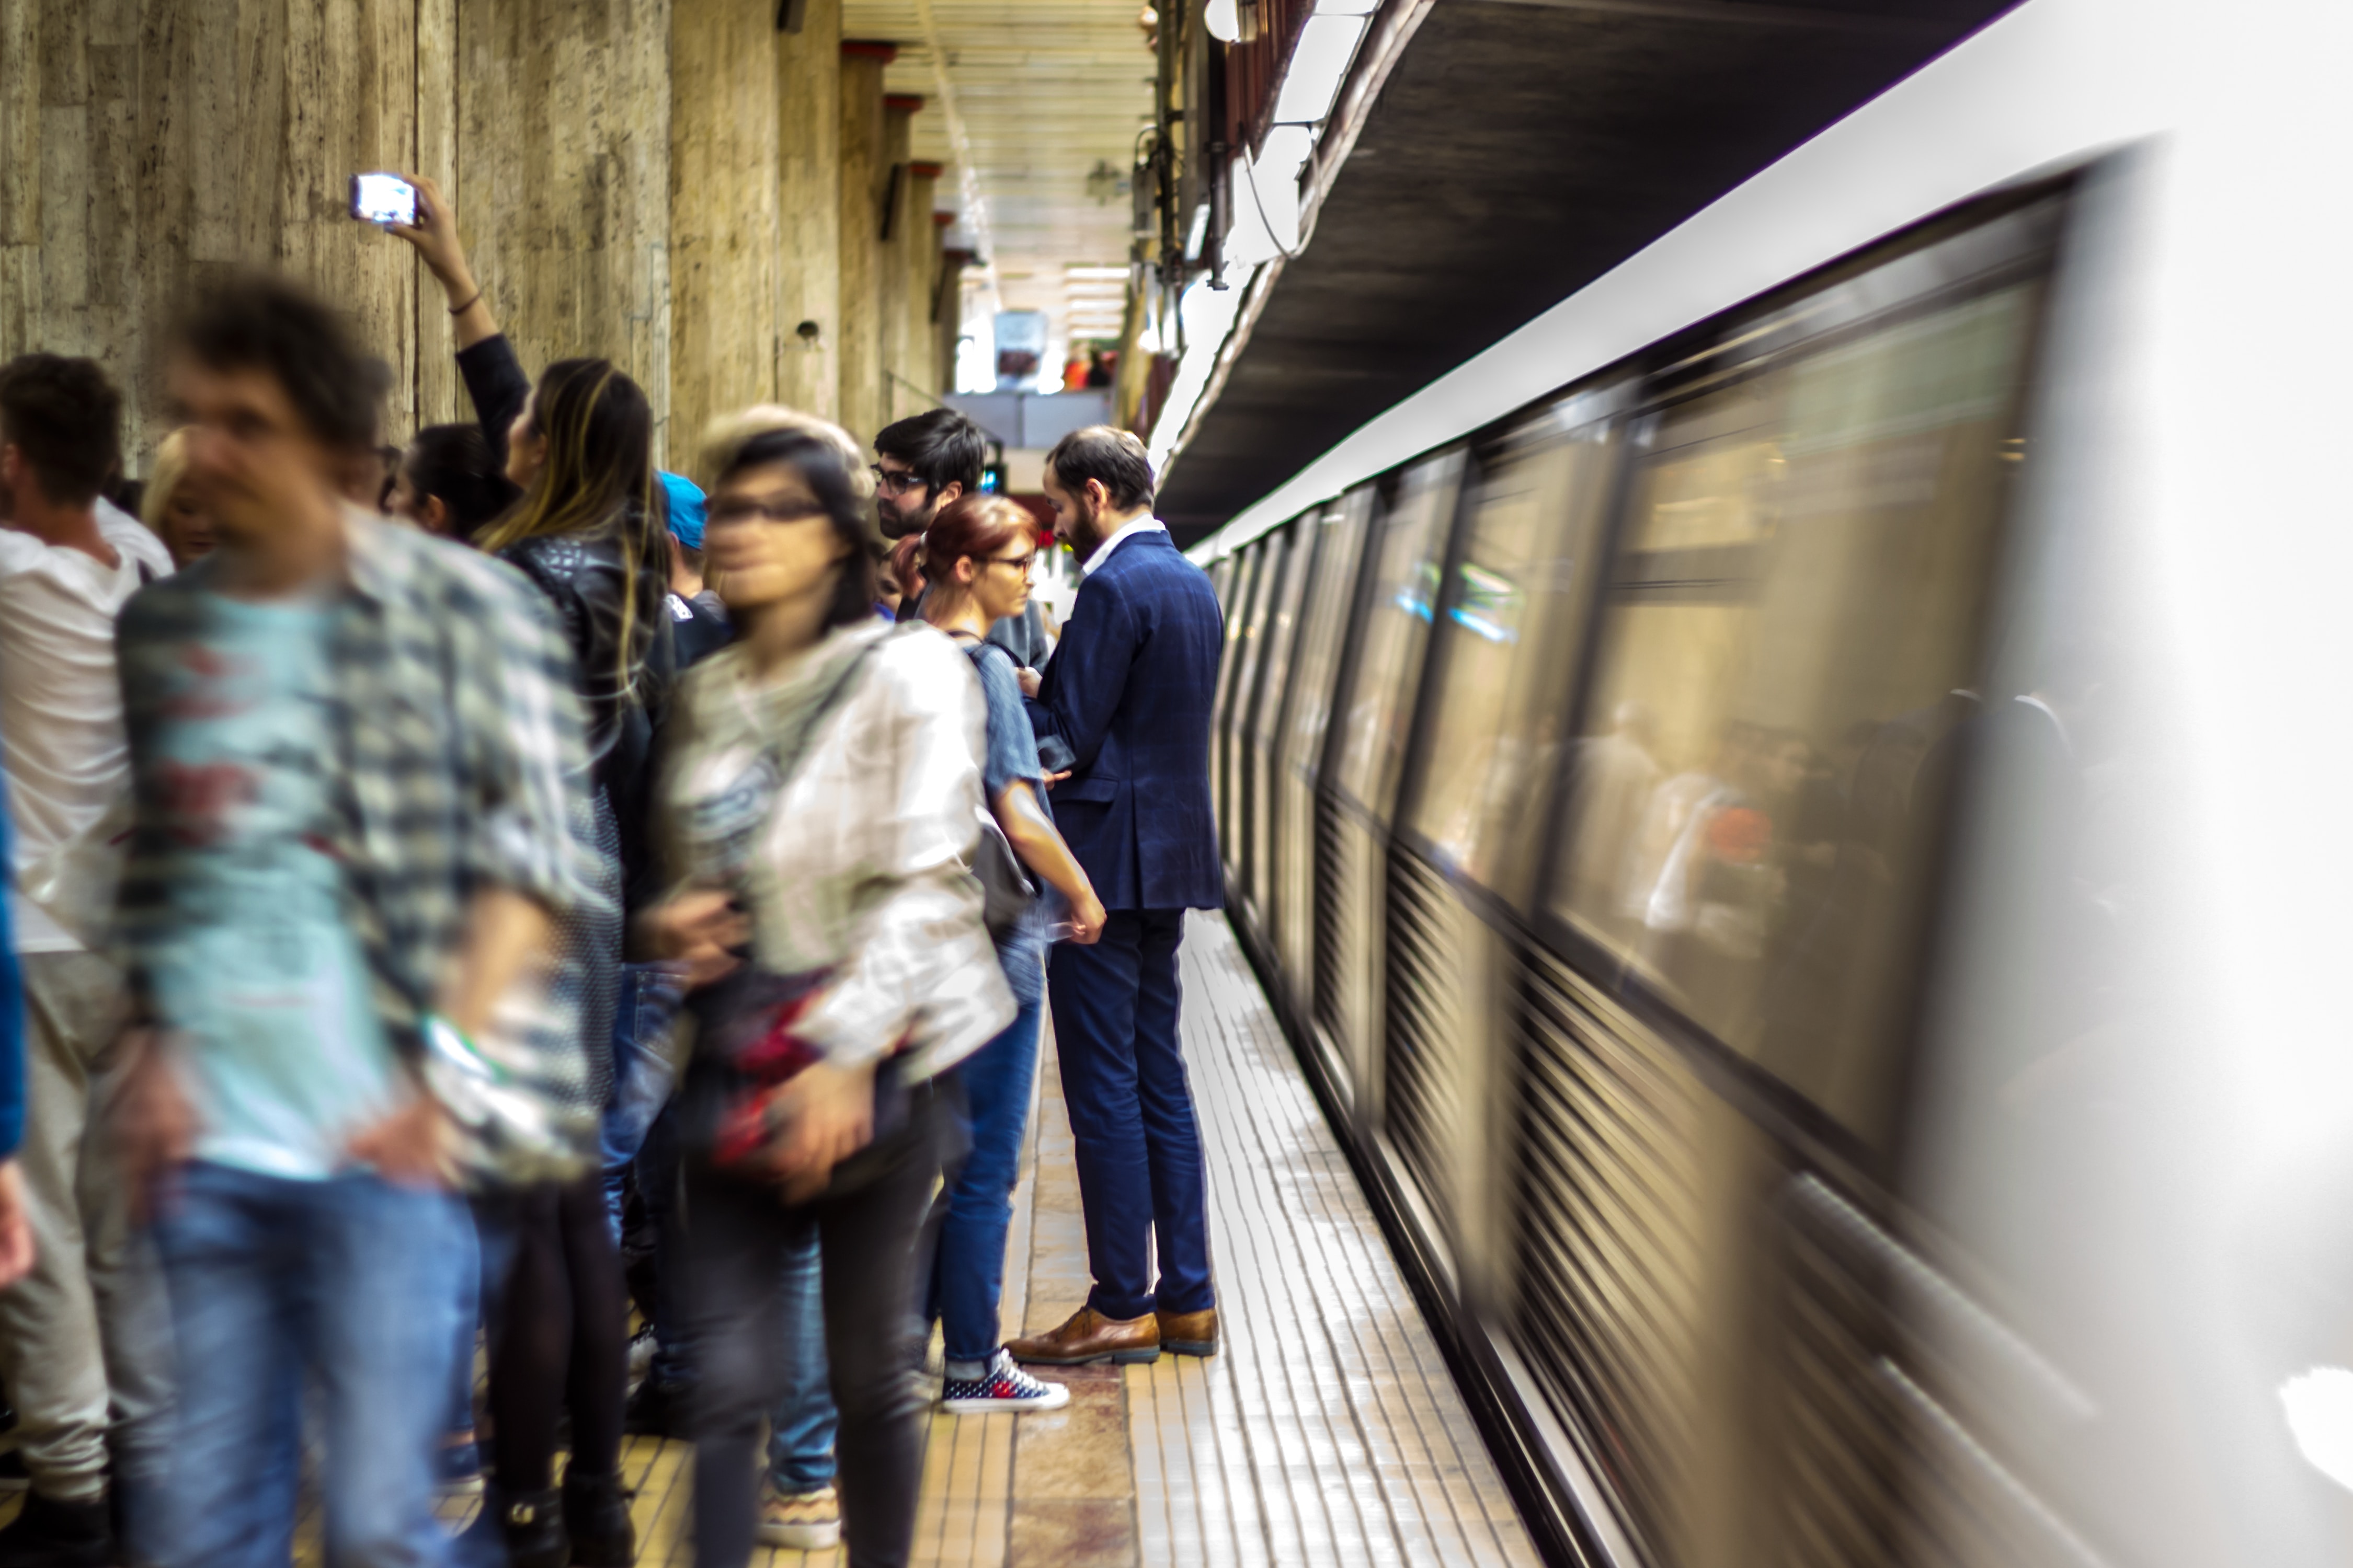
M247 273L205 292L172 346L212 371L266 371L329 447L376 444L386 364L360 350L336 310L285 277Z

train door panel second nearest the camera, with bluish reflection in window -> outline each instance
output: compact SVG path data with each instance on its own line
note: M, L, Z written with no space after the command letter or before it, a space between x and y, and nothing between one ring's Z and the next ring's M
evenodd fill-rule
M1381 1133L1466 1298L1497 1258L1499 1074L1626 388L1478 451L1388 851Z

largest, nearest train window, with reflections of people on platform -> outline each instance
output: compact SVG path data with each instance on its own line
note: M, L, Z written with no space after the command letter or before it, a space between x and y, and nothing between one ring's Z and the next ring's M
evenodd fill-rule
M1569 766L1555 910L1873 1143L2035 294L1798 348L1654 416Z

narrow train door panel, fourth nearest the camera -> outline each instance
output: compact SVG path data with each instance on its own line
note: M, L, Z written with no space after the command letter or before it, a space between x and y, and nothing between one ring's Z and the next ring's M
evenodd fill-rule
M1372 508L1374 489L1365 484L1311 512L1313 567L1299 597L1299 632L1273 743L1273 950L1280 1004L1294 1039L1304 1041L1315 1039L1315 780L1322 776L1332 682L1355 614ZM1334 1063L1322 1067L1329 1084L1344 1081Z

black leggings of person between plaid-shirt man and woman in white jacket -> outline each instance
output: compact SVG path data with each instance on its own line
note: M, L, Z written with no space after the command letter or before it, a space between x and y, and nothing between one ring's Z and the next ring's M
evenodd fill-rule
M508 1495L553 1486L555 1425L572 1408L572 1467L621 1465L628 1399L628 1295L605 1218L605 1180L532 1187L513 1199L515 1258L489 1342L489 1422Z

